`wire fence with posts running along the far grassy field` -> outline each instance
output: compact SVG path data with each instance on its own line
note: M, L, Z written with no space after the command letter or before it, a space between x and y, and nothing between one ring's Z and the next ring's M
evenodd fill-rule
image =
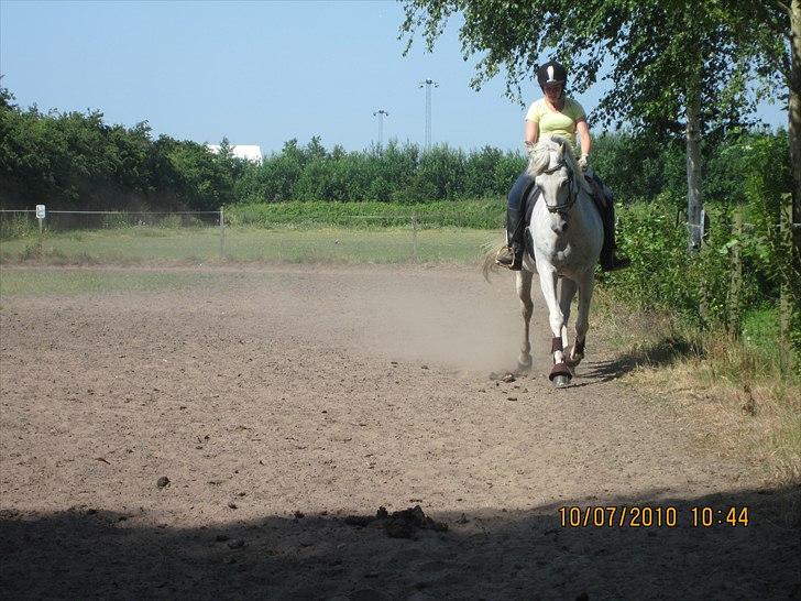
M277 260L290 262L474 262L500 228L447 216L350 215L251 220L219 211L0 211L3 261L64 263ZM500 221L500 219L498 219Z

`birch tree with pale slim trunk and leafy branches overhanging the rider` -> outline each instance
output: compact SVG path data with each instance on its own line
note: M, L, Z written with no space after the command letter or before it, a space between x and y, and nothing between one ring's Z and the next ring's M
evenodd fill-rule
M606 124L627 122L639 133L683 131L690 245L698 248L701 136L740 121L771 89L772 74L761 59L765 33L746 43L743 32L754 26L743 25L745 12L729 4L737 0L406 0L401 29L407 51L418 31L431 51L449 18L461 14L464 58L483 54L473 87L505 70L514 99L546 52L572 69L570 85L578 91L594 84L611 61L606 78L614 87L593 116ZM756 95L749 85L755 77L765 84Z

